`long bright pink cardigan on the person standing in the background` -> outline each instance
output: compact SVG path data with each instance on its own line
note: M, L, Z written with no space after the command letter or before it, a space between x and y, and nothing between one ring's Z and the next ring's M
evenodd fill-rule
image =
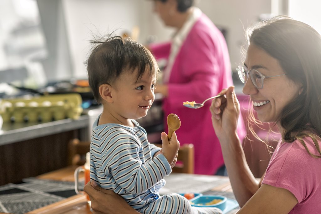
M171 43L150 46L156 59L168 58ZM176 131L181 145L193 143L195 173L213 175L221 167L221 146L213 130L211 101L200 109L189 109L183 102L202 103L233 85L230 58L221 31L202 14L183 42L169 77L169 96L163 100L164 124L170 113L179 116L181 127ZM239 136L245 135L244 124L239 122Z

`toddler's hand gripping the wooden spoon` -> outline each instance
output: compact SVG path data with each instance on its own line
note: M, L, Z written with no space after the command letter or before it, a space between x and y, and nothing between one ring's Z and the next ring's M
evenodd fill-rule
M177 152L179 149L179 142L177 140L176 133L174 132L170 141L168 140L167 134L165 132L161 133L162 153L169 162L170 166L173 168L177 161Z

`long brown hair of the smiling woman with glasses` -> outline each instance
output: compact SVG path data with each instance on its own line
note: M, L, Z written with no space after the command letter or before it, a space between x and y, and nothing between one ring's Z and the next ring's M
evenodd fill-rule
M308 24L277 16L253 26L247 36L249 43L279 61L288 78L302 84L302 93L282 109L276 121L284 129L283 140L288 143L298 140L312 157L321 158L320 34ZM253 116L249 118L255 120ZM308 149L303 140L306 137L314 142L317 154Z

